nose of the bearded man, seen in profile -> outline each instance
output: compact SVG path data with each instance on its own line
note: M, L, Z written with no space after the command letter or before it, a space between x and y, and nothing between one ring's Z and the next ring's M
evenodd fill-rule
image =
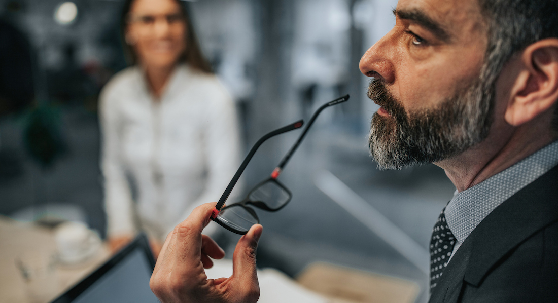
M360 72L368 77L381 79L387 83L395 80L395 66L393 57L396 47L393 44L393 30L383 36L368 49L360 58L358 65Z

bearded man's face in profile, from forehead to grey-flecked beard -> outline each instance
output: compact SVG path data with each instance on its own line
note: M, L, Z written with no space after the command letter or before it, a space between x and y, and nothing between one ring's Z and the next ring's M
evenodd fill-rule
M436 162L479 143L490 126L487 25L475 0L400 0L396 25L360 60L374 77L369 144L378 164Z

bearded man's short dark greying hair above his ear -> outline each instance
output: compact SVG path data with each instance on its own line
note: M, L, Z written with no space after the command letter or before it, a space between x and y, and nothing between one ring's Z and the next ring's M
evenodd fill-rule
M545 38L558 38L557 0L478 1L489 26L488 64L483 70L486 80L495 80L490 78L498 77L506 62L518 51ZM558 134L558 106L551 128Z

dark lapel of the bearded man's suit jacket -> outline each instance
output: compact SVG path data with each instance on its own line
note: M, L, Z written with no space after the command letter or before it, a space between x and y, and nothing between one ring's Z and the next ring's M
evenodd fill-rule
M558 219L558 167L519 190L473 230L444 269L430 302L457 302L463 281L478 287L494 265Z

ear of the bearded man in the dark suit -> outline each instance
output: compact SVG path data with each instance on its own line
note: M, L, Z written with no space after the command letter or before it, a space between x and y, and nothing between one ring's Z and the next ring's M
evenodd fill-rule
M537 41L520 54L504 119L518 126L554 107L558 100L558 38Z

